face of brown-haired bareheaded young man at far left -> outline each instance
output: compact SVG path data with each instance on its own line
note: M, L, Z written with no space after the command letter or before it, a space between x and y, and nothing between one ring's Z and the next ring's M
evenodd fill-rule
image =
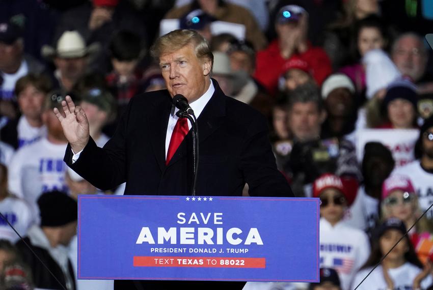
M45 99L43 92L29 84L17 97L19 109L26 118L41 118L42 105Z

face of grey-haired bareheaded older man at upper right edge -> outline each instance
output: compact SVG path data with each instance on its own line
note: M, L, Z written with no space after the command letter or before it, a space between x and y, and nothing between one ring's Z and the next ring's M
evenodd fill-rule
M410 76L414 81L418 81L423 76L427 65L422 45L412 36L403 37L398 41L391 55L398 70L403 75Z

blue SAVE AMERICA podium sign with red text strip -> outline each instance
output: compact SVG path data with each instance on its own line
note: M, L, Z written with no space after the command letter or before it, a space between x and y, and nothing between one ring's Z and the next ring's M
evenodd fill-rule
M319 280L317 198L78 196L78 278Z

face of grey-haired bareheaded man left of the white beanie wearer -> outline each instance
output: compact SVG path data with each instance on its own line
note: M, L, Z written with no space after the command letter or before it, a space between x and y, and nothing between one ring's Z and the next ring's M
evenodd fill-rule
M323 119L323 113L314 102L294 103L289 111L289 127L293 136L301 141L318 137Z

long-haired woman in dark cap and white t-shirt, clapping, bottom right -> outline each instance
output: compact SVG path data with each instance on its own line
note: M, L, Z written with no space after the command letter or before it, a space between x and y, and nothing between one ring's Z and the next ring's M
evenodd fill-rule
M359 290L418 289L431 284L431 275L422 270L423 265L405 233L404 223L396 218L388 219L376 228L370 256L355 276L351 288L357 287L378 263L380 265L361 283Z

